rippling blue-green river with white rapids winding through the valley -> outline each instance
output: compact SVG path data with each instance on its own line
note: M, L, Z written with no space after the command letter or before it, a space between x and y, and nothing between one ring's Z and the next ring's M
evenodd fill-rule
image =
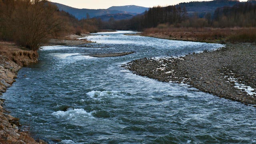
M256 108L121 67L138 58L184 56L223 45L123 33L129 32L88 36L96 43L87 47L43 47L38 63L22 68L3 94L5 108L35 138L52 144L256 143ZM130 51L135 53L87 56Z

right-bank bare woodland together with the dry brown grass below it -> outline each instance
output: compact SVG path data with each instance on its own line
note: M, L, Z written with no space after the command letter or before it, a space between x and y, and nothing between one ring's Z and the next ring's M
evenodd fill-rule
M204 17L197 13L188 17L185 7L157 6L112 24L112 28L121 30L142 30L143 36L214 43L256 42L255 27L256 4L250 1L217 8L213 15L206 13Z

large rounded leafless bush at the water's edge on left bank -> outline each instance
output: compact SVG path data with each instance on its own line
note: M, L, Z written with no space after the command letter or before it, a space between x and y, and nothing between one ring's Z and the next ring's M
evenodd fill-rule
M36 51L61 30L56 7L45 0L16 0L16 3L12 22L14 40L20 45Z

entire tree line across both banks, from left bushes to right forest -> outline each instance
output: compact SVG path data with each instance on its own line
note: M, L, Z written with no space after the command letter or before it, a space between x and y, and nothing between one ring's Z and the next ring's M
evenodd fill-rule
M38 50L50 38L65 34L98 32L101 29L139 30L147 28L226 28L255 27L256 2L243 2L217 8L214 14L200 18L197 13L188 16L186 7L156 6L128 20L110 18L104 22L97 18L78 20L47 0L0 0L0 39L11 40L20 46Z

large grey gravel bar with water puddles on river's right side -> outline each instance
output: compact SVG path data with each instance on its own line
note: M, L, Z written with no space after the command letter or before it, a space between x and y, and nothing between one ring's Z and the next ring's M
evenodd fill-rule
M181 58L143 58L125 67L141 76L162 82L183 82L221 98L256 106L254 44L227 44L216 51Z

